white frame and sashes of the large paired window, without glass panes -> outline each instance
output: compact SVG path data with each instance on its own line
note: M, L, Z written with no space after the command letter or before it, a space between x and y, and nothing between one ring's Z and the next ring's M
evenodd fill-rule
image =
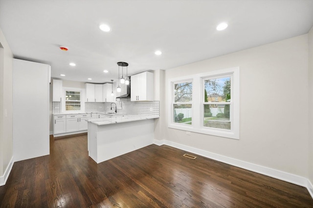
M204 102L204 80L209 77L232 76L231 80L231 105L230 105L230 122L231 129L217 129L203 127L203 104ZM174 122L174 84L185 81L192 81L192 124L184 125ZM182 76L168 79L168 128L179 129L189 132L198 132L203 134L221 136L226 138L239 139L239 122L240 122L240 84L239 84L239 67L233 67L222 70L215 70L190 76ZM226 103L226 102L225 102ZM227 102L229 103L229 102ZM222 104L222 102L211 102L210 104Z

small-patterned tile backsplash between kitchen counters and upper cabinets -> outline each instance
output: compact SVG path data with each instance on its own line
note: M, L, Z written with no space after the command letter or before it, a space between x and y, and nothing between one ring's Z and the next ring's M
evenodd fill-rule
M132 102L126 100L124 102L115 102L115 104L118 113L159 116L159 101ZM111 110L111 102L85 102L86 113L101 113L109 110ZM61 102L52 102L52 113L62 113Z

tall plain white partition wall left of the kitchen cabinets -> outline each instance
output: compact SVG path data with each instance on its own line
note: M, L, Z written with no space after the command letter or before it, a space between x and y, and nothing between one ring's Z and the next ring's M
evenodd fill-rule
M14 161L48 155L49 65L13 59Z

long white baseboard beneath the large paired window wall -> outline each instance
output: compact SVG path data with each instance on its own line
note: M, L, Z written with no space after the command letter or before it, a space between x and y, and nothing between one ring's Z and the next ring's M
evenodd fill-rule
M267 168L267 167L256 165L256 164L252 164L252 163L248 163L248 162L245 162L245 161L242 161L242 160L237 160L237 159L234 159L234 158L231 158L231 157L226 157L226 156L223 156L223 155L220 155L220 154L216 154L216 153L212 153L212 152L209 152L209 151L200 150L200 149L197 149L197 148L189 147L189 146L182 145L182 144L179 144L179 143L176 143L176 142L171 142L171 141L168 141L168 140L154 140L154 144L156 144L158 146L163 145L163 144L164 145L168 145L168 146L180 149L180 150L189 151L189 152L201 155L203 157L207 157L207 158L210 158L210 159L213 159L213 160L217 160L217 161L220 161L220 162L232 165L232 166L236 166L236 167L243 168L243 169L246 169L246 170L251 170L253 172L261 173L263 175L267 175L267 176L270 176L270 177L273 177L273 178L277 178L277 179L280 179L280 180L283 180L283 181L290 182L292 184L296 184L296 185L299 185L299 186L306 187L309 190L309 192L310 192L310 194L311 194L311 196L313 198L313 186L310 183L310 181L307 178L305 178L305 177L294 175L294 174L291 174L291 173L288 173L288 172L284 172L284 171L280 171L280 170ZM309 187L308 184L310 184L311 187Z

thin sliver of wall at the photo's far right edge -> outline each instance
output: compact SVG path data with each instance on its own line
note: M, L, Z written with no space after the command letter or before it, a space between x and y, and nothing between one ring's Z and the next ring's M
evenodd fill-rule
M313 193L313 27L309 32L309 180Z

